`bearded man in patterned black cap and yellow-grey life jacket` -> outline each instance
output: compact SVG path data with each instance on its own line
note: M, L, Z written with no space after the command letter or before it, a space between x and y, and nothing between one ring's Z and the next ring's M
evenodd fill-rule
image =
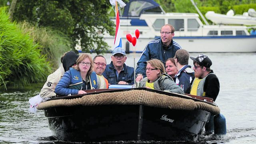
M196 58L190 56L190 58L194 61L193 70L195 72L190 94L206 96L215 101L220 91L220 82L213 70L210 69L212 61L204 54L199 54Z

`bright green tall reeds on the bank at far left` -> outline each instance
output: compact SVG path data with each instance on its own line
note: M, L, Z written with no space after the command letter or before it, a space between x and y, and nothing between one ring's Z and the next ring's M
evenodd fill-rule
M42 82L51 71L40 46L10 22L0 8L0 86L26 86Z

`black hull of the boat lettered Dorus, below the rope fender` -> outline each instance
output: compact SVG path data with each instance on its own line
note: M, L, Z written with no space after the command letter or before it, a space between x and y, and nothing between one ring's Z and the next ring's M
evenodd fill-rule
M53 135L72 142L195 141L210 118L201 109L144 105L65 106L45 110L45 115Z

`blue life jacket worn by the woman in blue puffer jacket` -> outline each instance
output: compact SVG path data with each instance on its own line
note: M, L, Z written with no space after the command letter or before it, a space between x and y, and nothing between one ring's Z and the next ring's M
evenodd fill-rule
M68 86L68 88L82 90L83 80L82 80L80 71L74 68L70 68L70 75L71 75L71 84ZM91 89L97 89L98 88L97 76L95 72L92 72L92 74L90 74L89 80L90 80Z

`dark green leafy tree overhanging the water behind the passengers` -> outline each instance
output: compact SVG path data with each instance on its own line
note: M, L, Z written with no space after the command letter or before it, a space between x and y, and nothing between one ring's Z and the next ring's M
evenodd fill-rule
M54 27L68 34L73 48L80 40L83 51L102 53L109 47L103 33L114 35L110 6L109 0L20 0L14 19Z

